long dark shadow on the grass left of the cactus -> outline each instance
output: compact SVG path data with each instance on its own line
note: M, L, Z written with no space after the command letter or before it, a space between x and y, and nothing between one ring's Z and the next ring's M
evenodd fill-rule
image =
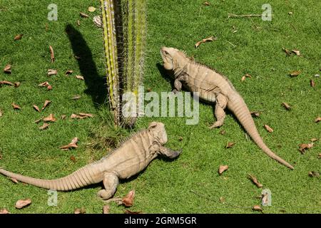
M79 31L71 24L68 24L65 29L73 55L76 56L78 66L81 71L81 76L85 79L87 89L85 93L91 95L93 104L96 108L106 102L108 90L106 86L106 77L98 75L96 63L93 61L91 49ZM78 58L79 57L79 58Z

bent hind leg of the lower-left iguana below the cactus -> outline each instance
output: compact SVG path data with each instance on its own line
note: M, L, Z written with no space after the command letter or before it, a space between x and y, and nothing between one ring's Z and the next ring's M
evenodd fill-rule
M117 189L118 186L118 177L113 172L106 172L103 176L103 187L104 190L100 190L97 195L102 199L111 198Z

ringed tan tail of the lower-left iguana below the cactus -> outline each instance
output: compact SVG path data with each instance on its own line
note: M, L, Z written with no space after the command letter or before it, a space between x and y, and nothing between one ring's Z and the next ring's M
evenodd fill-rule
M29 185L34 185L36 187L42 187L50 190L58 191L69 191L76 190L87 185L91 185L101 180L97 180L97 176L100 173L98 167L93 164L86 165L85 167L80 168L79 170L71 173L66 177L61 177L55 180L44 180L37 179L33 177L26 177L24 175L19 175L14 172L9 172L3 169L0 169L0 173L6 175L7 177L14 178L20 182L24 182Z

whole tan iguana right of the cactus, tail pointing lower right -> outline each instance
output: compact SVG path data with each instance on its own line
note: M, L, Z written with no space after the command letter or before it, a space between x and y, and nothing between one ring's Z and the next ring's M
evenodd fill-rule
M225 108L234 113L236 118L243 125L243 128L250 135L253 141L267 155L293 169L292 165L275 155L263 142L255 123L250 114L248 106L241 95L235 90L228 78L215 70L196 63L188 58L183 51L176 48L161 48L163 66L166 70L173 71L175 81L173 92L180 91L184 86L192 93L198 92L201 100L208 103L215 103L216 122L210 128L219 128L225 119Z

